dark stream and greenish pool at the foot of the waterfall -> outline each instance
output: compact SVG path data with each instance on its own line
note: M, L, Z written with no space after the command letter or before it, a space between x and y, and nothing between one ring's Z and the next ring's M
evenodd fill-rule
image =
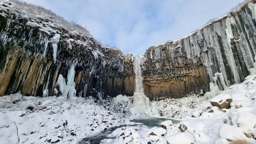
M178 120L174 120L174 119L165 119L165 118L156 118L156 117L148 117L148 118L141 118L141 119L134 119L134 120L130 120L130 122L135 122L135 123L143 123L140 125L146 125L148 128L153 128L155 126L160 127L160 123L167 121L167 120L171 120L173 122L173 124L178 124L180 121ZM120 125L118 127L115 128L111 128L110 130L106 130L103 131L101 134L98 134L97 136L94 137L88 137L83 139L80 144L100 144L101 140L106 139L106 136L110 133L112 133L113 131L115 131L117 128L121 128L123 126L136 126L138 124L135 125ZM115 137L112 137L112 139Z

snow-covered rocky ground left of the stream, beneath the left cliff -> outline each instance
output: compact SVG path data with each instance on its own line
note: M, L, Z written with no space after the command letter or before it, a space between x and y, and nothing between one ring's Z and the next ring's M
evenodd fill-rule
M76 143L128 122L95 101L20 93L0 97L0 143Z

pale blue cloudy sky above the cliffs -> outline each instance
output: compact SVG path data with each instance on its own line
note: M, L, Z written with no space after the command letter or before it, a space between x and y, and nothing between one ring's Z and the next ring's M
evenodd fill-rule
M139 55L188 35L244 0L24 0L75 21L103 44Z

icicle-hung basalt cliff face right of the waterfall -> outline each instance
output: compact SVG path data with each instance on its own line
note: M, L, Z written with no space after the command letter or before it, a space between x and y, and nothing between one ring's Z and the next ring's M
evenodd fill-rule
M144 53L147 96L182 97L244 81L256 55L255 1L176 41ZM223 80L224 79L224 80Z

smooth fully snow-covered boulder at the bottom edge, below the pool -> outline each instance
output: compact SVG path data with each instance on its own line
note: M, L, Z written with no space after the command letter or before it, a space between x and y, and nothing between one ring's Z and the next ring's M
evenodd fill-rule
M189 132L183 132L166 138L167 144L191 144L195 142L194 137Z

